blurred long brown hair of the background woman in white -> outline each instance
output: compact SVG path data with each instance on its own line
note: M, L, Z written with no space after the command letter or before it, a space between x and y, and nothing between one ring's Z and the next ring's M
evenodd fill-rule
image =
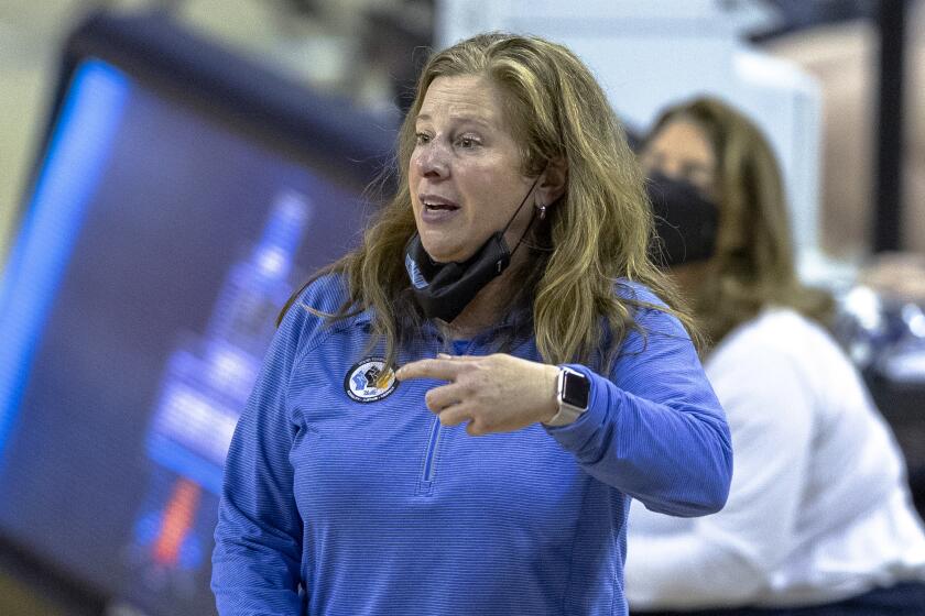
M828 326L831 296L797 279L781 172L762 132L730 106L703 97L664 110L646 143L676 120L704 131L716 157L716 253L689 298L707 337L719 342L768 306Z

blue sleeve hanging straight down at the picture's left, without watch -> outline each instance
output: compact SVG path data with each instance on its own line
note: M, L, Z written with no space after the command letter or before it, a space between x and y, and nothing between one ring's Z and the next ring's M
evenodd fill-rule
M228 450L211 578L221 616L302 613L302 520L289 460L300 428L286 389L304 321L296 302L276 330Z

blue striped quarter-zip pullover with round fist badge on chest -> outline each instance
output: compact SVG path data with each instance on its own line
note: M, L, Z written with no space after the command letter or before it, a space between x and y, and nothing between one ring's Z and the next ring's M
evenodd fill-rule
M368 359L368 311L325 326L303 307L342 298L337 276L303 292L238 424L213 557L222 616L625 615L630 497L679 516L725 503L729 431L675 318L640 309L648 333L608 375L572 365L591 380L574 424L476 438L427 409L439 382L396 384ZM428 329L399 362L445 346ZM511 353L541 361L533 340Z

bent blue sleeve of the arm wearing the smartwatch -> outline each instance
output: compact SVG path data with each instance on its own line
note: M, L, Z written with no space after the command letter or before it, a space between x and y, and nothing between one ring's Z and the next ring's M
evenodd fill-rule
M654 296L653 296L654 297ZM548 432L594 477L674 516L722 508L732 479L732 447L722 407L681 322L641 309L610 377L572 365L591 380L588 410Z

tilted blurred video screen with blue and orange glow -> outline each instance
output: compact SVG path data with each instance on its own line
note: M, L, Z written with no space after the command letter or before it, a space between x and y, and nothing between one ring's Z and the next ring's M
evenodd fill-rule
M143 614L215 613L221 469L276 315L371 210L324 153L79 65L0 283L0 534Z

